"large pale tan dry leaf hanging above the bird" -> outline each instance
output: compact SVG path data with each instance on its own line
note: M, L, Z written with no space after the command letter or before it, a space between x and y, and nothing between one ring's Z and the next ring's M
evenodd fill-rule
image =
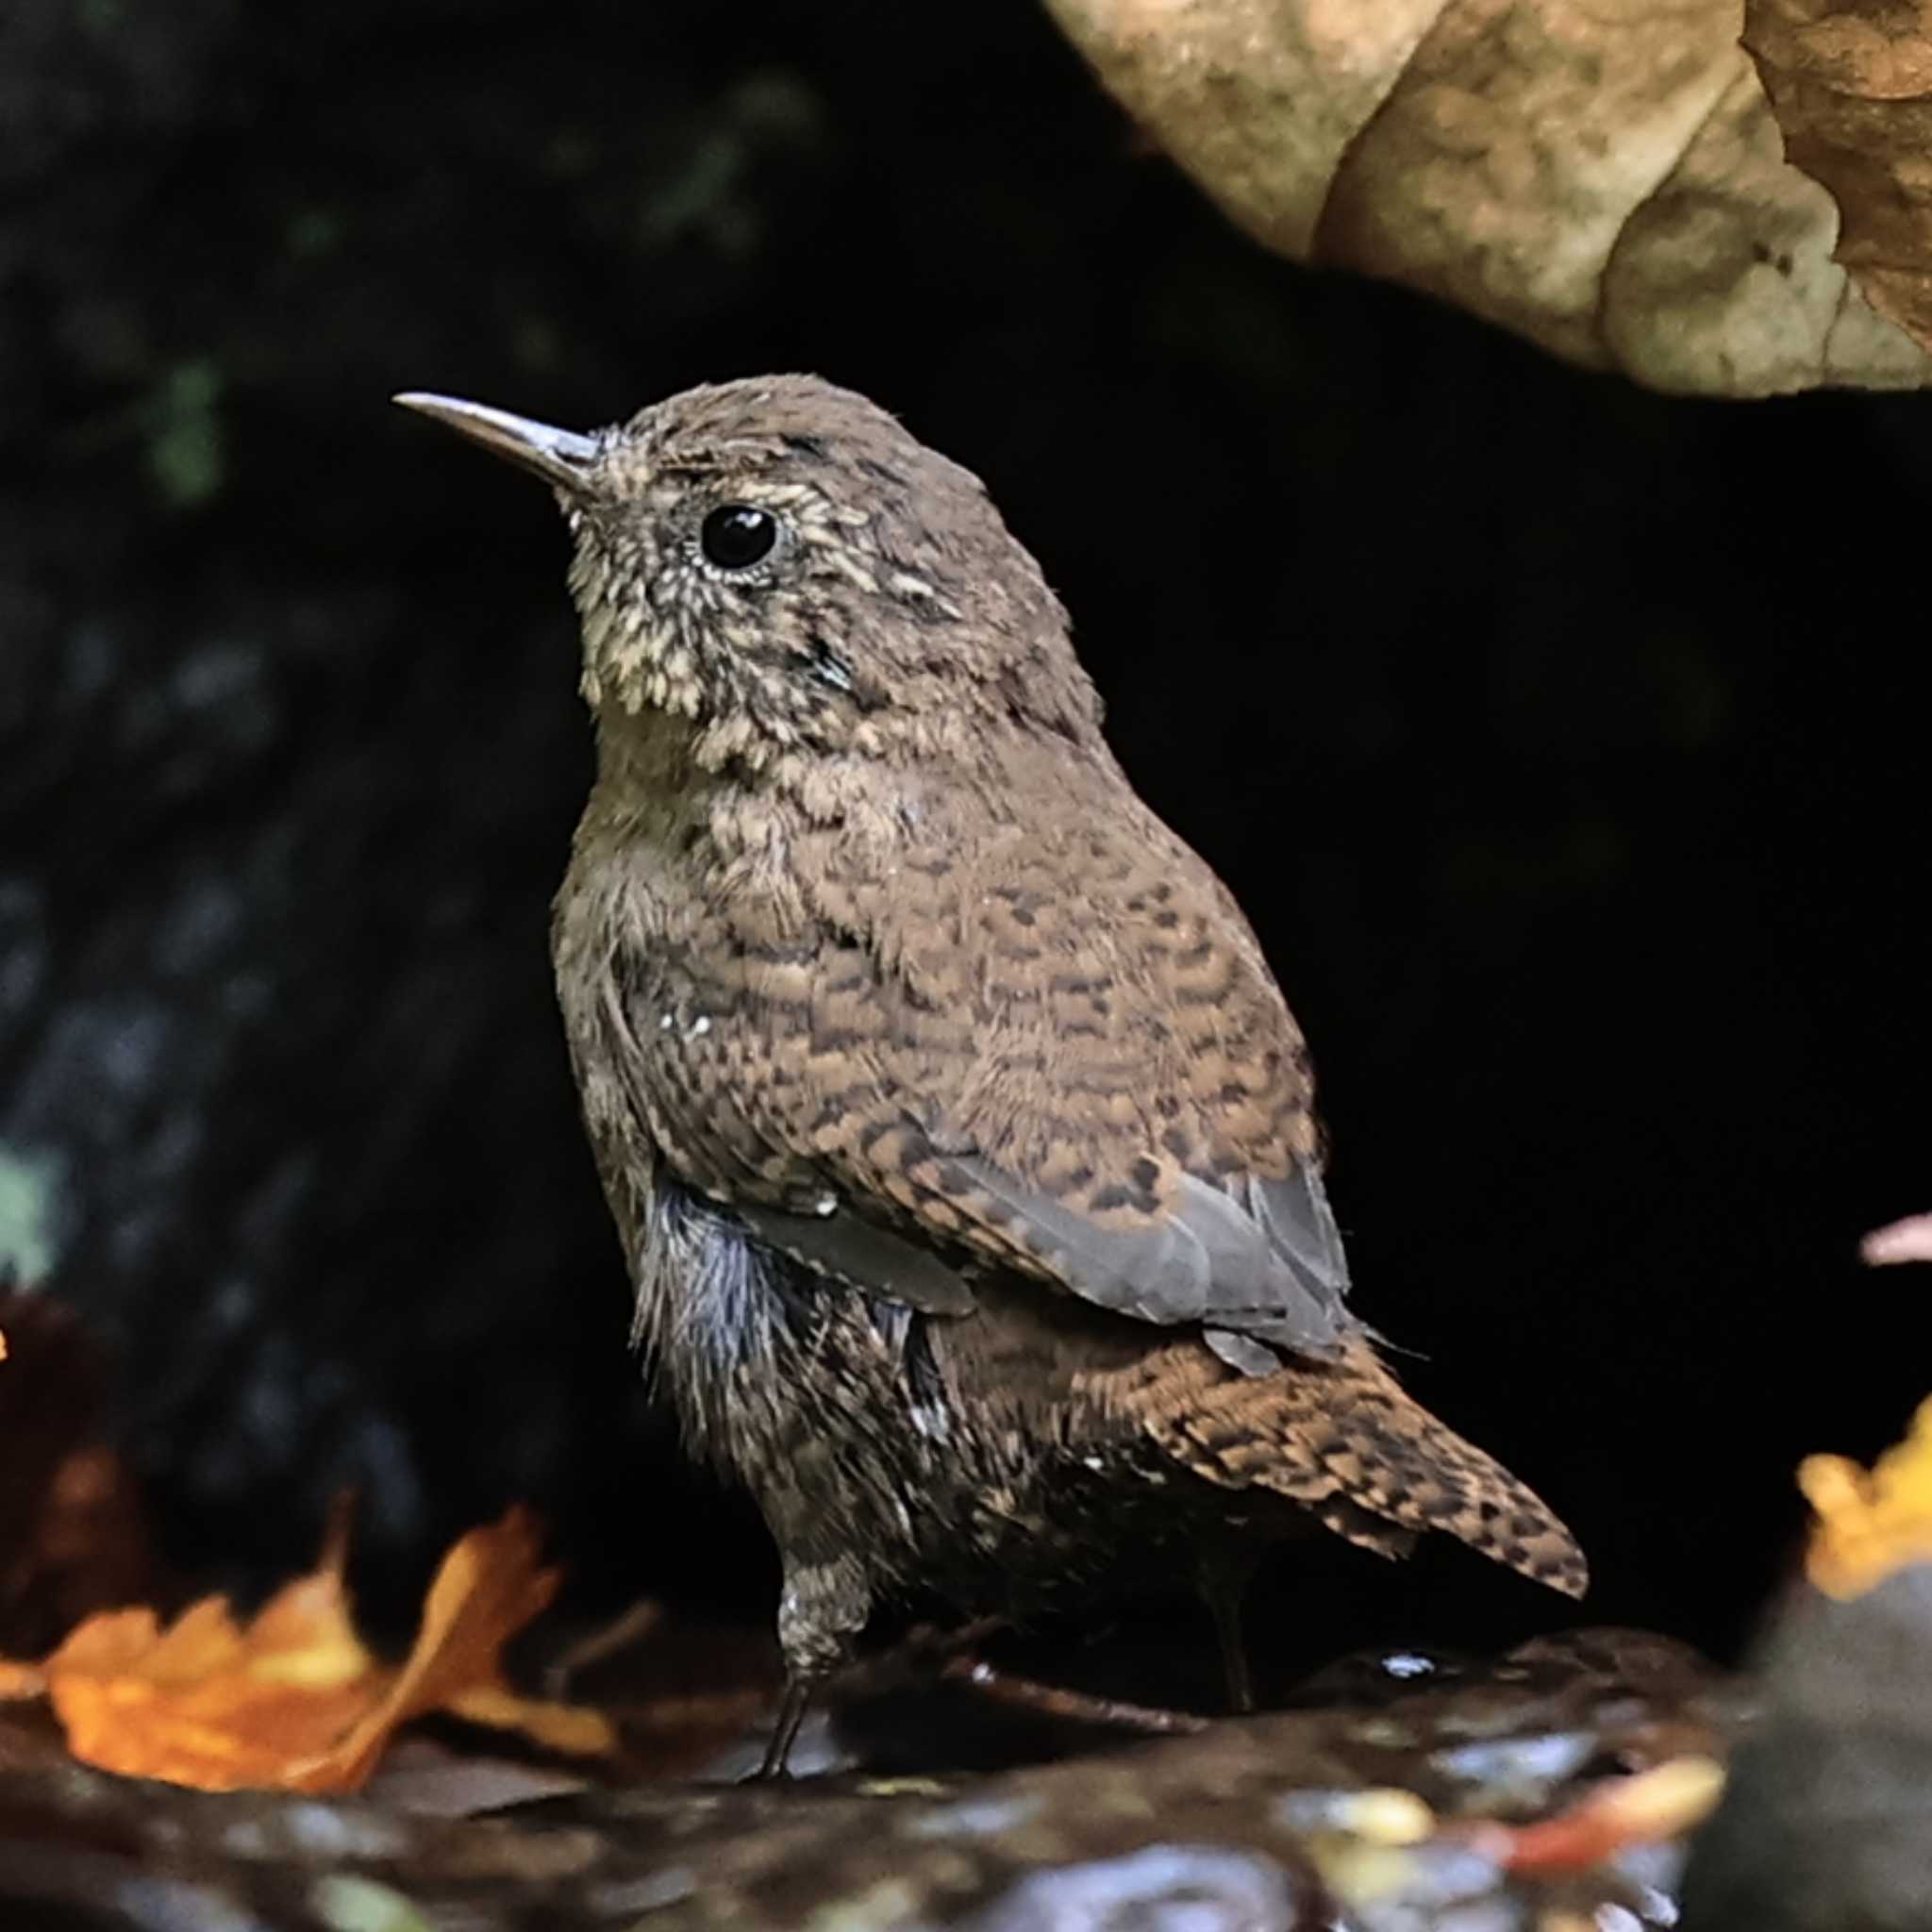
M1799 0L1781 0L1797 6ZM1656 388L1909 388L1833 261L1743 0L1047 0L1256 240Z

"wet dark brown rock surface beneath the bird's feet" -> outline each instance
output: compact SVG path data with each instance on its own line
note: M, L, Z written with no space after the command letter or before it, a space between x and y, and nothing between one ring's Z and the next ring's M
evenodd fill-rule
M1412 1660L1410 1660L1412 1662ZM1509 1868L1493 1826L1665 1754L1721 1750L1739 1694L1679 1646L1578 1633L1376 1704L1213 1723L989 1774L875 1777L831 1745L782 1785L578 1791L429 1816L363 1801L199 1797L0 1768L0 1907L164 1932L276 1926L970 1926L1511 1932L1553 1911L1669 1924L1681 1847ZM1329 1687L1333 1690L1333 1685ZM1321 1696L1321 1687L1312 1687ZM947 1706L923 1735L943 1752ZM721 1764L721 1772L730 1766ZM479 1803L489 1803L489 1787ZM1372 1791L1376 1806L1350 1797ZM1399 1793L1412 1793L1403 1808ZM412 1797L417 1808L412 1808ZM1416 1799L1434 1818L1416 1828ZM1486 1830L1488 1828L1488 1830Z

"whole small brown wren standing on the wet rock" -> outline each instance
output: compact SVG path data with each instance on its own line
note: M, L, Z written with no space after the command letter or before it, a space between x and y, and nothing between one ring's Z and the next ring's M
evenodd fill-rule
M404 400L576 539L558 997L639 1337L771 1524L800 1692L881 1592L1217 1586L1310 1517L1580 1592L1349 1312L1300 1032L980 483L804 377L595 437Z

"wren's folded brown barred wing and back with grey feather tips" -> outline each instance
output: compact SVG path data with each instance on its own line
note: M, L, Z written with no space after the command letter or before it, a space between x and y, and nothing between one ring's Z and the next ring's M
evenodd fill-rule
M690 1182L929 1312L970 1306L952 1264L978 1260L1202 1323L1256 1374L1267 1345L1331 1354L1358 1327L1300 1034L1179 840L1047 827L810 877L825 937L779 947L746 916L728 966L653 962L661 1018L628 1026Z

